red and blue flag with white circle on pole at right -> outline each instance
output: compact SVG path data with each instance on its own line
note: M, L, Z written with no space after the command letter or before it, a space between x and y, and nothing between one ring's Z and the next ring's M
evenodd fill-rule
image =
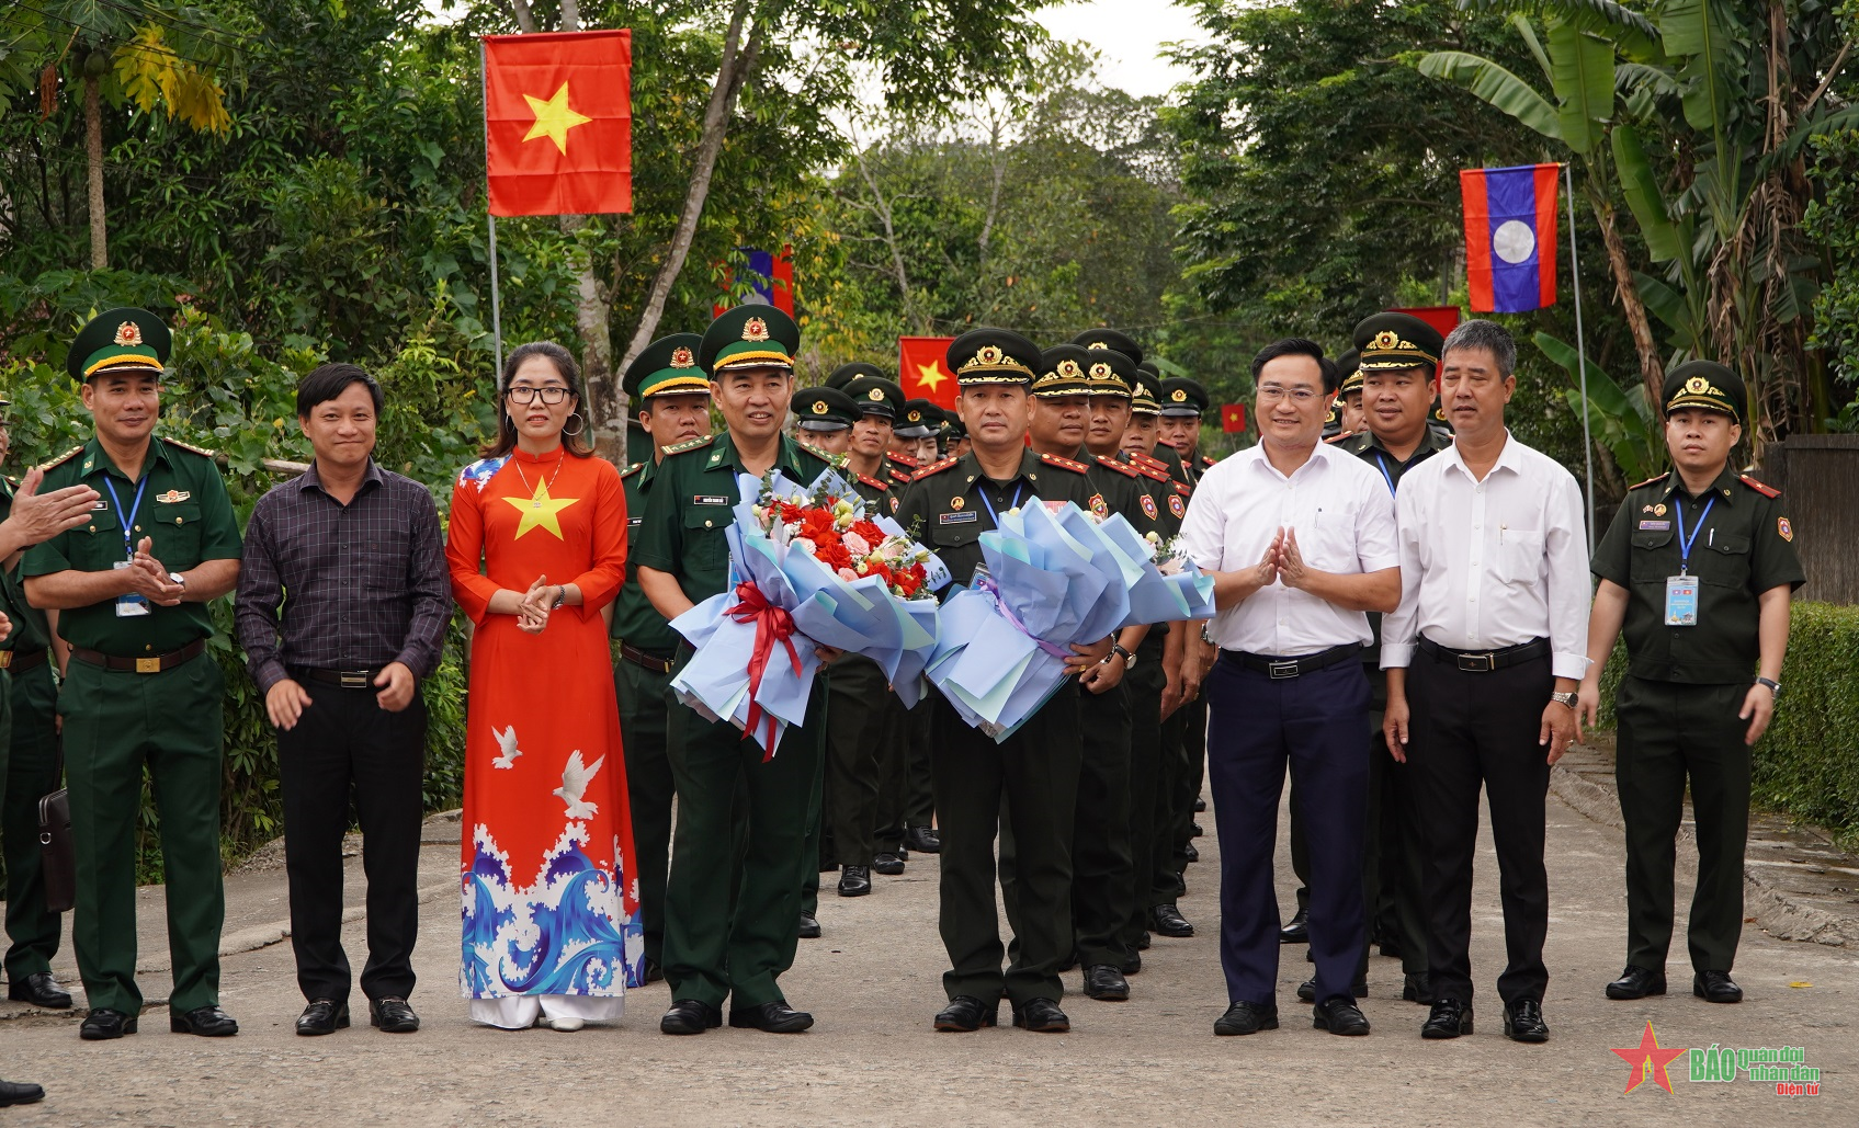
M1556 184L1562 165L1461 169L1465 275L1472 310L1556 305Z

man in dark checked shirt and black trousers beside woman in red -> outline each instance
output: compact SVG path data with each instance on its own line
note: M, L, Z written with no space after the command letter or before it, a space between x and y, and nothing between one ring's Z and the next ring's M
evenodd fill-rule
M424 485L374 463L381 385L323 364L297 385L310 468L273 487L245 526L238 637L277 725L299 1035L349 1024L342 834L349 794L368 875L368 1018L420 1028L413 992L426 706L452 589Z

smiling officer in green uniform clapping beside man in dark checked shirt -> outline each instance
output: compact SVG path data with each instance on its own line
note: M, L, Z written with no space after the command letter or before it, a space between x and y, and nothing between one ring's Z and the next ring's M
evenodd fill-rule
M97 435L56 459L52 489L102 496L87 524L26 552L26 598L58 611L71 643L58 712L65 730L71 831L78 855L73 948L91 1013L80 1037L136 1031L136 816L149 767L162 818L169 1026L238 1033L219 1009L221 697L206 658L210 600L238 582L232 502L206 452L154 440L167 325L138 308L99 314L71 344Z

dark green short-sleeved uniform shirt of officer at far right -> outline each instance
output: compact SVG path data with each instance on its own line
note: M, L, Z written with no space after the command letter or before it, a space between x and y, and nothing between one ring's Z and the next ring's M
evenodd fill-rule
M1679 574L1682 556L1681 502L1684 533L1697 530L1682 563L1699 580L1695 626L1666 626L1666 578ZM1760 654L1757 597L1807 582L1781 491L1729 466L1699 498L1677 470L1627 491L1589 571L1628 593L1627 673L1699 686L1747 682Z

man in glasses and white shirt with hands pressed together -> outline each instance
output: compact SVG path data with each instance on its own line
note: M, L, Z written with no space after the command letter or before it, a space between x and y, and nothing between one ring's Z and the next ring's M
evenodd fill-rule
M1272 853L1288 762L1311 836L1314 1026L1365 1035L1368 1020L1351 992L1363 953L1368 788L1361 652L1372 637L1365 611L1392 611L1400 595L1394 504L1366 463L1322 442L1337 366L1320 346L1266 346L1253 359L1253 383L1259 446L1201 478L1180 530L1193 561L1214 576L1220 610L1190 647L1186 675L1206 686L1221 855L1229 1007L1214 1033L1277 1028Z

